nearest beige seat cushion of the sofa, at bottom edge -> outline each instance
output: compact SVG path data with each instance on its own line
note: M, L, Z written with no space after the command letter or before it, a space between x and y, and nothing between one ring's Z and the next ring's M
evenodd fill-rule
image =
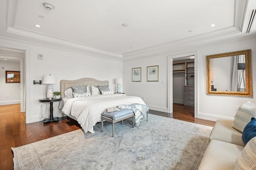
M234 170L236 158L243 149L239 145L211 140L198 170Z

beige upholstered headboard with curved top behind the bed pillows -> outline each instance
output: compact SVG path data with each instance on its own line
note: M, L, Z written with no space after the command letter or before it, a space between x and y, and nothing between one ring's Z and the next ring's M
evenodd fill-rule
M61 80L60 81L60 92L61 97L64 98L65 94L64 91L68 88L71 88L71 86L89 86L89 90L91 90L91 86L98 87L100 86L106 86L108 85L108 80L100 81L96 80L94 78L81 78L78 80Z

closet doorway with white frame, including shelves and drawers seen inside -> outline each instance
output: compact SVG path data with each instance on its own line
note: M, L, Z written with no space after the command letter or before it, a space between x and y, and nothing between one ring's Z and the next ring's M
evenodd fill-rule
M197 118L197 81L196 51L168 56L168 113L175 113L178 106Z

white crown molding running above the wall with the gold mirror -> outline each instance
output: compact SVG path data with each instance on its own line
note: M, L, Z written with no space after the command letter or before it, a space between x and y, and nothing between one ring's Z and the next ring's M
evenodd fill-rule
M154 47L148 47L137 51L123 54L123 61L139 59L145 57L153 57L173 53L174 51L185 51L190 48L202 47L205 45L213 45L219 43L227 43L231 41L241 41L243 39L255 38L256 33L244 34L238 27L230 27L223 29L222 32L215 31L212 33L196 35L193 37L172 41Z

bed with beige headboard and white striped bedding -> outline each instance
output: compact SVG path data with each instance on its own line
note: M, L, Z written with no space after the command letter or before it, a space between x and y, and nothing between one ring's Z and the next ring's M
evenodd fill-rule
M60 81L60 91L62 96L62 102L60 103L59 109L62 113L75 119L81 125L84 132L94 133L94 125L101 121L101 113L109 107L118 107L131 104L139 104L143 107L142 114L138 117L138 124L141 120L146 118L145 111L148 111L148 107L144 101L137 96L126 96L125 94L101 94L106 91L97 91L98 87L108 86L108 81L100 81L94 78L81 78L79 80L61 80ZM85 95L82 97L68 96L70 89L74 88L86 88L86 93L90 95ZM72 91L73 92L73 91ZM138 125L137 124L137 125Z

